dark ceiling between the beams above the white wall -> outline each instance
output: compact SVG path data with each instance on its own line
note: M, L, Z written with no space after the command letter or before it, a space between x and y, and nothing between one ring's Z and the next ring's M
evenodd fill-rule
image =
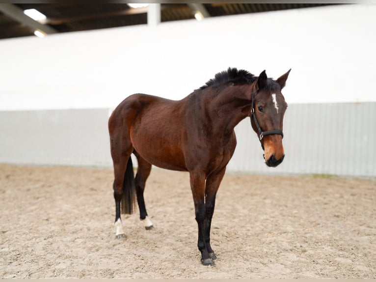
M4 5L4 4L0 4ZM43 22L57 32L92 30L147 24L147 8L126 3L23 3L7 4L16 10L37 9L47 16ZM194 19L192 4L161 4L161 22ZM323 6L323 3L209 3L200 4L210 17ZM3 12L0 7L0 39L33 36L34 30Z

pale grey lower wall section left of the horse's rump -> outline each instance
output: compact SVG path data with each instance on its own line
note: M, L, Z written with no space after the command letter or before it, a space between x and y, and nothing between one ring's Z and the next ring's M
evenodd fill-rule
M108 109L0 112L0 162L108 166Z

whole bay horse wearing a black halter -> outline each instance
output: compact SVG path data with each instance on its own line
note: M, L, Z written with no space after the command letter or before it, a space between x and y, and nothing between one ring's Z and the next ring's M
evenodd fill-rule
M108 119L116 238L125 237L120 213L132 214L135 199L145 228L153 228L143 196L152 165L188 171L201 263L214 265L210 228L215 195L237 144L234 127L250 117L266 165L283 161L287 104L281 89L290 70L273 80L265 70L256 77L228 68L179 101L140 93L124 99ZM138 162L135 177L132 153Z

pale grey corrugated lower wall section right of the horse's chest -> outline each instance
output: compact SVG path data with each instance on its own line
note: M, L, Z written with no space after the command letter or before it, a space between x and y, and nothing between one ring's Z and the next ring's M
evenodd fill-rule
M293 104L284 119L286 157L268 168L247 118L228 170L376 176L376 103Z

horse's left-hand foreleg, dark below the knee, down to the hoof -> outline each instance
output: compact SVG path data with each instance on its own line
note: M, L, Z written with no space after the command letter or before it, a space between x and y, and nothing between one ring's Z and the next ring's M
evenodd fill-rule
M189 179L194 202L196 222L198 226L197 247L201 252L201 263L203 265L214 265L213 259L209 254L208 247L205 242L205 174L190 172Z

